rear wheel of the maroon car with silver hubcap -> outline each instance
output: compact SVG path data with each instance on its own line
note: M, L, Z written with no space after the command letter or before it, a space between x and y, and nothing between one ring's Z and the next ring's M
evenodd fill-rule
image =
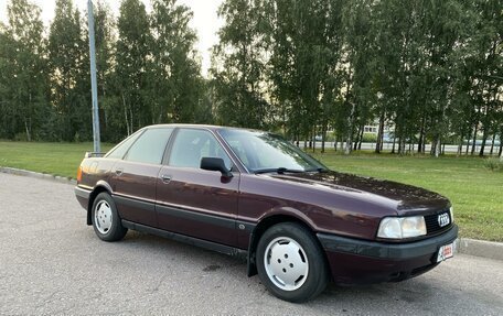
M128 232L128 229L122 227L117 207L108 193L96 196L90 218L96 235L104 241L121 240Z

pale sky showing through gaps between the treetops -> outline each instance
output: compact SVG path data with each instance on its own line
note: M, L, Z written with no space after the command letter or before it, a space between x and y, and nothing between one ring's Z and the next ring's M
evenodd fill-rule
M55 0L29 0L42 9L42 20L46 26L54 18ZM96 1L96 0L95 0ZM148 0L142 0L146 3L147 10L150 4ZM210 48L217 43L218 36L216 32L223 25L222 19L218 19L216 10L223 0L178 0L176 3L185 4L194 12L194 18L191 21L191 28L197 32L199 42L197 51L202 57L203 76L207 75L210 68ZM7 6L10 0L0 0L0 20L7 22ZM117 18L119 13L119 0L101 0L107 3L114 15ZM87 8L87 0L74 0L82 12Z

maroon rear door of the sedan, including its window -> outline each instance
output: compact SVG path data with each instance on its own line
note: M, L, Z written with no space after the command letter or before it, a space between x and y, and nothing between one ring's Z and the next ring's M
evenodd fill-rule
M156 184L172 128L150 128L111 170L114 200L122 219L158 227Z

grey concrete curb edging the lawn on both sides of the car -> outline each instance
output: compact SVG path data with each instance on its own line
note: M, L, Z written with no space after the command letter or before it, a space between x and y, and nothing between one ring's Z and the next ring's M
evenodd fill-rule
M52 174L45 173L38 173L33 171L26 171L21 168L14 167L0 167L1 173L13 174L13 175L21 175L21 176L29 176L29 177L36 177L42 179L49 179L58 183L66 183L71 185L76 185L77 182L73 178L67 178L64 176L57 176ZM470 238L458 238L456 241L456 252L463 253L474 257L482 257L493 260L503 261L503 242L493 242L493 241L484 241L484 240L477 240Z

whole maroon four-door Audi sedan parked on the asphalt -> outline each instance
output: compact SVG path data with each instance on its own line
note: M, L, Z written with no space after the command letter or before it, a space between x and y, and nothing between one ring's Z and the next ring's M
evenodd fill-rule
M105 241L128 229L247 258L277 297L402 281L452 257L449 200L330 171L278 135L236 128L143 128L86 154L75 194Z

